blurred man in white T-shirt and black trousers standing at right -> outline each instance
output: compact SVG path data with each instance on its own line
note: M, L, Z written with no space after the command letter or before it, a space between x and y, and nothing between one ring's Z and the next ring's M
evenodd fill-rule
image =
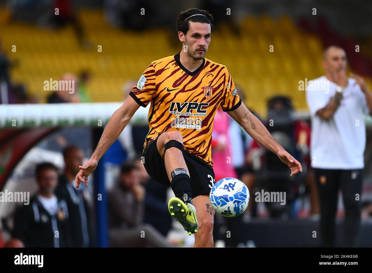
M360 227L364 116L372 113L372 93L364 79L346 76L346 54L338 46L324 51L325 75L309 81L306 99L311 115L311 166L320 199L323 245L335 246L339 189L345 207L345 246L355 246Z

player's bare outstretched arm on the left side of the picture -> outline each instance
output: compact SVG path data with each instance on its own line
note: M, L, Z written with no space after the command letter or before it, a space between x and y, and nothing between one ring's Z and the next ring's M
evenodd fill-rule
M75 177L76 188L79 188L80 182L84 182L85 187L88 186L88 176L96 169L100 158L119 137L139 107L140 105L128 96L123 105L112 114L93 155L83 166L79 166L80 171Z

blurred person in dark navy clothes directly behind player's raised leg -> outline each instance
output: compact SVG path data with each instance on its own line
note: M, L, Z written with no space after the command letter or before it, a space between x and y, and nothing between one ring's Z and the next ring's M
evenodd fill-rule
M144 222L153 225L161 234L167 236L172 225L167 199L170 183L166 186L151 178L143 165L144 158L141 156L136 156L134 163L140 170L140 183L144 185L146 190Z

